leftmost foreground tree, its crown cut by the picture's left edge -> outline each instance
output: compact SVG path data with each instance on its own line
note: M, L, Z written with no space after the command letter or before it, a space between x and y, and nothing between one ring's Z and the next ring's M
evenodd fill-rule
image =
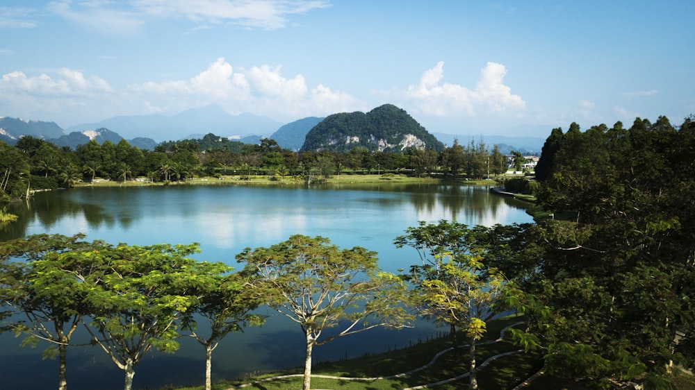
M76 251L97 250L103 243L81 241L84 235L33 235L0 245L3 302L26 321L10 324L16 334L26 334L23 345L48 341L45 357L58 357L58 389L67 389L67 347L83 316L90 313L86 296L91 262L72 256ZM8 260L24 260L9 263Z

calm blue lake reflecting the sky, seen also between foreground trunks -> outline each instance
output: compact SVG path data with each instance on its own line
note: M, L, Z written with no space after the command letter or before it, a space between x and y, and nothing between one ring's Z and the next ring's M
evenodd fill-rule
M341 248L377 251L381 268L398 273L415 264L418 255L411 248L395 248L393 239L418 221L448 219L469 226L531 222L523 207L514 199L489 194L488 187L459 185L81 187L35 194L28 203L10 205L8 212L19 215L19 221L0 228L0 240L83 232L90 241L111 244L197 242L202 253L193 256L196 259L238 266L234 257L243 248L270 246L294 234L320 235ZM263 327L222 341L213 353L213 382L303 364L300 328L268 314L272 316ZM314 362L400 349L437 332L424 321L413 329L370 330L315 348ZM78 339L86 340L84 334ZM45 345L20 348L20 341L11 334L0 336L1 387L55 388L57 362L41 359ZM104 352L96 347L70 349L70 389L122 389L123 372ZM136 366L133 389L203 383L204 349L184 338L175 355L145 357Z

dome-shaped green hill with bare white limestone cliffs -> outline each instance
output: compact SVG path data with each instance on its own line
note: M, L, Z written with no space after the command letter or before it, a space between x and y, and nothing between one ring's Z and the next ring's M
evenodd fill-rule
M329 115L309 130L300 150L349 152L356 146L370 151L402 151L413 146L436 151L444 149L444 145L405 110L384 104L366 114Z

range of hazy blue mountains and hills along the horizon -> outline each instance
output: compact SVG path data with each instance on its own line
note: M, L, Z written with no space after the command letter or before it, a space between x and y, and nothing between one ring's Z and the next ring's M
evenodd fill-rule
M388 114L386 117L391 117L392 122L393 120L397 122L402 120L400 124L401 127L412 125L414 126L413 128L420 128L423 130L424 133L422 134L427 133L427 131L407 115L404 110L393 105L381 106L381 108L384 107L390 109L386 110L386 114ZM375 110L379 112L377 109ZM384 112L382 112L382 114L384 114ZM358 119L358 117L361 119ZM383 115L377 115L377 117L383 117ZM400 117L400 119L398 119L398 117ZM125 138L129 144L133 146L138 146L138 148L143 150L152 150L159 142L180 139L202 139L205 134L213 133L220 137L227 137L245 144L259 144L261 138L268 137L274 139L278 145L284 149L299 151L302 146L304 146L306 135L317 126L318 129L314 132L315 134L320 133L320 129L325 130L330 128L332 125L329 124L338 123L339 121L336 122L337 119L345 119L348 121L357 120L359 122L367 118L367 114L352 112L331 115L326 118L306 117L289 124L280 124L279 122L272 121L272 119L252 114L229 115L229 113L216 105L208 105L203 108L186 110L172 117L166 117L164 115L113 117L95 124L71 126L67 128L66 131L54 122L0 117L0 140L13 145L17 142L19 137L31 135L33 137L45 139L58 146L67 146L74 149L80 144L89 142L90 139L95 139L99 143L103 143L107 139L113 143L117 143ZM380 120L382 119L376 119L375 123ZM370 121L363 122L363 125L366 127L376 126L378 128L388 128L390 126L388 123L368 124L368 122ZM391 133L398 133L398 126L395 127L396 128L393 128L393 132L391 130L386 131L389 135L384 135L385 133L378 135L377 133L382 130L377 130L377 133L375 133L375 127L373 127L371 129L371 136L374 136L374 139L382 139L382 144L395 145L404 142L403 139L393 141L395 135ZM333 135L336 135L335 129L331 130L331 132L333 132ZM362 141L370 138L370 135L366 133L363 135L357 134L359 132L355 129L349 130L348 133L350 133L353 143L354 137L361 137ZM343 135L346 134L347 133L343 132ZM431 136L432 139L429 139L427 142L441 142L443 146L451 146L454 139L457 138L455 135L442 133L434 133ZM314 137L314 135L311 135L311 137ZM419 137L415 138L420 139ZM543 142L545 142L543 138L505 136L485 136L475 137L473 139L461 139L461 137L458 137L458 142L466 146L470 144L471 140L477 143L481 139L482 142L490 148L494 144L497 144L500 152L505 154L509 154L512 150L521 151L525 154L540 154ZM410 140L410 142L413 141L414 139Z

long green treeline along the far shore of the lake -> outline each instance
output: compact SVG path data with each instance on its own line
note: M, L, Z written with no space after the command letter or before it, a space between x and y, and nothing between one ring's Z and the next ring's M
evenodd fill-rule
M297 153L282 149L273 139L260 144L205 135L202 139L163 142L154 151L131 146L125 139L117 144L90 141L76 150L31 136L15 146L0 142L0 196L18 198L31 189L72 187L95 178L115 181L142 178L152 182L178 181L195 176L293 176L329 178L341 171L354 173L400 172L417 176L445 173L483 178L507 169L507 158L497 146L472 141L457 142L441 153L411 148L399 152L372 152L363 146L346 153Z

